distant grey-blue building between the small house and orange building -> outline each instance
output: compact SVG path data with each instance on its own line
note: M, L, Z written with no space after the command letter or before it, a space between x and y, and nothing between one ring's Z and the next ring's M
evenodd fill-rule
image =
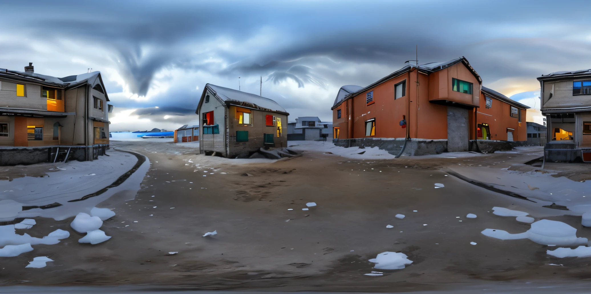
M300 116L296 122L288 123L288 141L311 141L333 138L332 122L322 122L317 116Z

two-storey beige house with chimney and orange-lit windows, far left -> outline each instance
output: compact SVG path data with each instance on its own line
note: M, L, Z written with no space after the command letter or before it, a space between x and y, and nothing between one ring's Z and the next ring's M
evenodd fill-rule
M0 68L0 165L98 158L109 147L107 102L99 71L57 78L32 63Z

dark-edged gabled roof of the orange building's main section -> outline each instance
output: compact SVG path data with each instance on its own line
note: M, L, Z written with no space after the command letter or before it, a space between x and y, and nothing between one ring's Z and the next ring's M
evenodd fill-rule
M470 70L470 72L472 72L472 74L474 75L474 77L476 77L476 80L478 80L478 82L480 84L482 84L482 78L480 78L480 75L478 73L476 73L476 71L474 70L474 68L472 68L472 66L470 66L470 63L468 62L468 60L466 59L466 57L460 57L460 58L456 58L456 59L453 59L453 60L450 60L450 61L446 61L446 62L442 62L442 63L419 64L418 66L414 66L413 64L407 64L406 66L400 68L400 70L394 71L394 73L391 73L391 74L389 74L386 77L383 77L382 79L376 81L375 83L372 83L369 86L356 91L355 93L351 93L351 94L346 95L339 102L336 102L335 101L335 104L333 104L333 107L331 109L335 109L335 107L336 106L339 106L340 103L342 103L345 100L351 99L352 97L357 96L359 93L365 92L366 90L369 90L369 89L371 89L371 88L373 88L375 86L378 86L379 84L384 83L385 81L394 79L395 77L398 77L398 76L401 76L402 74L408 73L408 71L411 71L414 68L417 68L418 71L420 71L421 73L431 74L431 73L434 73L436 71L443 70L443 68L454 66L454 65L456 65L458 63L463 63ZM337 98L338 97L339 96L337 94Z

